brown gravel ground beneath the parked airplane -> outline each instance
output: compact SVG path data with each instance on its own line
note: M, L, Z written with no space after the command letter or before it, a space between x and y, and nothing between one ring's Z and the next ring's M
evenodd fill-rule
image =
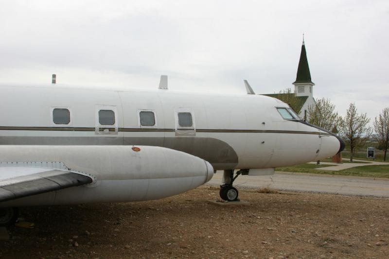
M24 208L0 258L388 258L389 199L215 187L159 201Z

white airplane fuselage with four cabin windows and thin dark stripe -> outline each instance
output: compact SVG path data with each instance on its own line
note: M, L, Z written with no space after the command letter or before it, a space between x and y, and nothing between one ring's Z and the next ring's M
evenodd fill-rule
M215 170L299 164L334 155L340 145L327 132L283 119L277 108L289 106L262 95L58 85L0 92L1 145L160 146L201 157ZM69 123L54 123L54 109L69 111ZM113 112L113 124L100 123L101 110ZM154 125L142 125L141 112L153 113ZM192 125L180 126L178 114L190 114Z

